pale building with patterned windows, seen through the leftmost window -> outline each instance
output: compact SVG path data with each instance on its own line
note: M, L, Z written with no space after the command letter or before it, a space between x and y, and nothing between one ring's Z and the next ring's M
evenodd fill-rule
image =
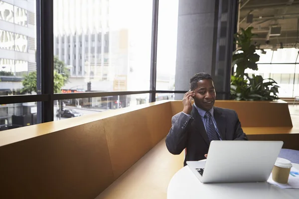
M34 0L0 0L0 95L19 95L24 75L36 71ZM0 104L0 128L36 123L35 103Z

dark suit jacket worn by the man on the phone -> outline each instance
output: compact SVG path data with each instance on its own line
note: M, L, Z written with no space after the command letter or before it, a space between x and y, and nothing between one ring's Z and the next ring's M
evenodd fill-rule
M174 115L172 127L165 140L168 151L174 155L180 154L186 148L184 166L186 161L205 159L204 154L209 150L207 133L194 105L191 115L191 118L183 112ZM236 111L214 107L214 118L222 140L247 140Z

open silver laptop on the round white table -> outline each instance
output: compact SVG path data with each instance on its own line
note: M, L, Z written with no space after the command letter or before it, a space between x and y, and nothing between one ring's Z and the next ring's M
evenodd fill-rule
M202 183L265 182L283 141L212 141L206 161L187 161Z

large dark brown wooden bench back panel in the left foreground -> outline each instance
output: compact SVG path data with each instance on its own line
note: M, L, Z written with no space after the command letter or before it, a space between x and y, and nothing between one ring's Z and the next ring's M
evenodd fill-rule
M0 162L1 199L93 199L114 181L102 121L1 146Z

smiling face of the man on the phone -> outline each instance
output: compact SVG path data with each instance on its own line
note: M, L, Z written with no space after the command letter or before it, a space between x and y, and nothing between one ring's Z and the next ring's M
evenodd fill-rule
M197 82L197 88L193 90L194 102L197 107L208 111L215 103L216 92L212 80L200 80Z

